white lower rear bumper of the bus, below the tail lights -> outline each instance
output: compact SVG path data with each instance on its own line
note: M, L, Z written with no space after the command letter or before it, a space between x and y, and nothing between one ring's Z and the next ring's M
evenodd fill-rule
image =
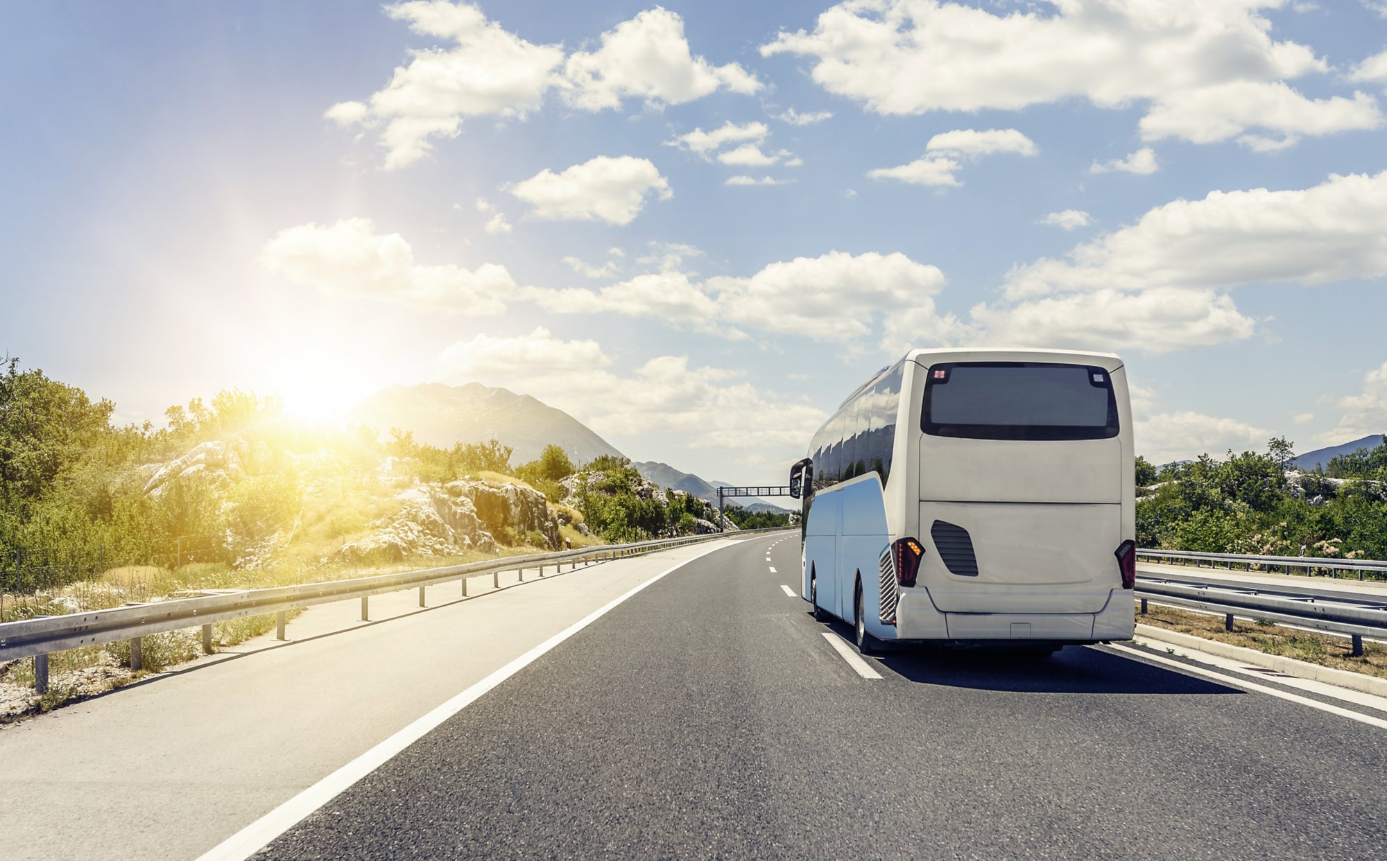
M1092 643L1132 639L1130 593L1114 589L1099 613L940 613L929 591L902 591L896 607L900 641L1049 641Z

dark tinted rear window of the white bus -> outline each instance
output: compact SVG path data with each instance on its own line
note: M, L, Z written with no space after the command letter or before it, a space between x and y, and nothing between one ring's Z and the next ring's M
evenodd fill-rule
M922 428L970 440L1107 440L1118 435L1112 380L1101 367L954 362L927 372Z

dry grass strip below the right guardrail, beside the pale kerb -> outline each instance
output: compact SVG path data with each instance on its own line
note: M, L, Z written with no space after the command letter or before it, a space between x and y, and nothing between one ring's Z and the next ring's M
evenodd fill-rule
M1158 607L1154 603L1148 605L1146 616L1142 614L1139 605L1136 620L1176 634L1191 634L1244 649L1257 649L1266 654L1387 678L1387 646L1377 643L1365 642L1362 657L1348 657L1350 642L1338 636L1241 618L1233 620L1233 631L1225 631L1222 616Z

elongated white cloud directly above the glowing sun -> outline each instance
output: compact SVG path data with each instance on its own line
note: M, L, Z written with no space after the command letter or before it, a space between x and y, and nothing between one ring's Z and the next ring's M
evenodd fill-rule
M369 218L280 230L261 250L259 262L284 280L327 295L404 301L473 315L505 311L519 290L505 266L476 270L452 263L424 266L398 233L376 233Z

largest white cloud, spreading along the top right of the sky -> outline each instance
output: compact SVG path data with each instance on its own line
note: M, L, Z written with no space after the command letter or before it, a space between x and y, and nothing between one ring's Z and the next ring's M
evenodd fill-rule
M761 55L810 57L814 80L878 114L1019 110L1082 97L1146 107L1147 140L1294 139L1383 123L1376 100L1308 98L1286 80L1329 64L1275 42L1261 15L1283 0L1057 0L1053 14L993 14L938 0L850 0L811 33L781 32ZM999 60L1000 58L1000 60Z

